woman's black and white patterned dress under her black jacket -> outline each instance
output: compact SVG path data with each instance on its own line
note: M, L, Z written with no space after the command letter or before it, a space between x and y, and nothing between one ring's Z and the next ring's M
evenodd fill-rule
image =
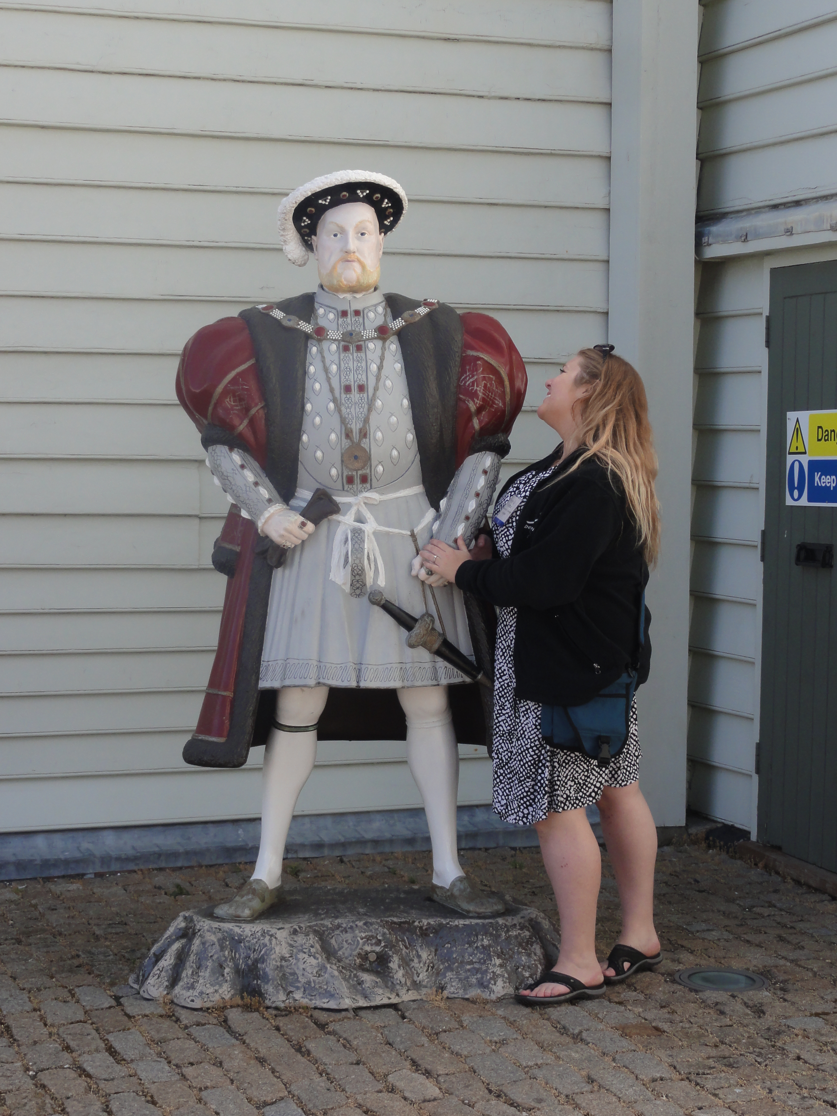
M520 503L502 526L492 525L494 542L508 558L520 512L538 481L552 471L525 473L503 493L497 511L514 497ZM568 539L571 546L573 540ZM514 628L517 608L501 608L494 660L494 811L506 821L531 826L547 814L591 806L605 787L627 787L639 778L636 699L631 708L628 739L606 768L579 752L550 748L540 732L540 703L514 696Z

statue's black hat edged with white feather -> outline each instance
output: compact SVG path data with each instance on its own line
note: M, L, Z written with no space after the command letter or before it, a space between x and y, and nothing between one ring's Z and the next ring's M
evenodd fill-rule
M335 171L311 179L279 205L279 235L291 263L305 267L319 219L349 202L372 205L383 233L392 232L407 210L407 195L395 179L375 171Z

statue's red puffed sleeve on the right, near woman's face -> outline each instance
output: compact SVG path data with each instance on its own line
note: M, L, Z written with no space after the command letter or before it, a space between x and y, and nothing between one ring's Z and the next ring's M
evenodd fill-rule
M456 468L474 439L511 432L526 397L526 367L511 337L487 314L463 314L456 402ZM508 446L508 442L506 443Z

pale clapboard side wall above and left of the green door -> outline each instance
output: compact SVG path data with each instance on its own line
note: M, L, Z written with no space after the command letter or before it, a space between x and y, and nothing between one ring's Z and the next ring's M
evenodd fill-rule
M714 0L704 4L700 60L699 222L734 214L743 222L776 208L791 230L785 241L780 230L778 243L708 250L698 297L690 804L750 828L761 642L764 251L793 249L795 206L837 194L837 2Z

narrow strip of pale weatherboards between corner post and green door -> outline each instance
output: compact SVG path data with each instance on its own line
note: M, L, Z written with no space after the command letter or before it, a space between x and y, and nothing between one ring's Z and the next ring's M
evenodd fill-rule
M761 641L759 258L704 263L698 299L689 634L689 801L749 828Z

